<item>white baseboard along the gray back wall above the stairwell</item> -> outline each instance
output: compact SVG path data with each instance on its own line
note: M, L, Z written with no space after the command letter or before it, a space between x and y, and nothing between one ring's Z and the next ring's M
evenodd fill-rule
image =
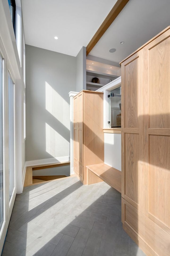
M26 161L25 166L46 165L50 163L60 163L60 162L67 162L67 161L70 161L70 156Z

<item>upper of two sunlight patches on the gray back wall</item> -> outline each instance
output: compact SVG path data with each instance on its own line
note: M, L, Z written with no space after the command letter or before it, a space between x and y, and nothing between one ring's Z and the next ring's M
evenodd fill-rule
M70 105L45 82L45 108L70 130Z

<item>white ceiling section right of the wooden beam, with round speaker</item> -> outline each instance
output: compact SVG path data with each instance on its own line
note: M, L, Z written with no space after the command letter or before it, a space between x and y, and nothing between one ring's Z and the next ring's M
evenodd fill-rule
M90 55L120 62L169 25L170 0L129 0Z

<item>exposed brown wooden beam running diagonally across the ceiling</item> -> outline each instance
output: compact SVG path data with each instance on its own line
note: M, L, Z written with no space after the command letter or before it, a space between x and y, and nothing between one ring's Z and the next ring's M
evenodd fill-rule
M112 22L116 19L118 14L121 12L121 10L125 7L126 3L129 0L117 0L115 5L113 6L112 10L109 12L97 32L95 33L94 37L91 39L91 41L88 43L86 47L86 56L90 53L90 51L93 49L93 47L96 45L96 43L99 41L99 39L102 37L102 35L105 33L105 31L108 29L108 27L112 24Z

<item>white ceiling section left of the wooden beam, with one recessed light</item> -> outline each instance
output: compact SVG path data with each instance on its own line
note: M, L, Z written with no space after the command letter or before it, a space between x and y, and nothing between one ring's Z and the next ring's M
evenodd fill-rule
M77 56L116 1L22 0L25 43Z

